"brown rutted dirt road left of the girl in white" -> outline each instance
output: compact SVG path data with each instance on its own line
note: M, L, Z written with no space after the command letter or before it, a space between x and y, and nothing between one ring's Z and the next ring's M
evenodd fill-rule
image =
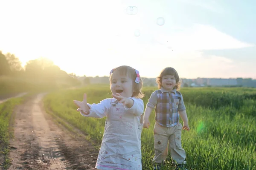
M41 99L31 96L15 110L12 165L8 170L93 170L98 150L85 135L56 125L45 113Z

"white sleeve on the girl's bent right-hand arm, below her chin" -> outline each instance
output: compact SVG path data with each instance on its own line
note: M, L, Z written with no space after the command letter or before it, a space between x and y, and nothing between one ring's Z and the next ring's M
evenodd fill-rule
M126 108L125 110L128 113L134 114L135 116L140 116L144 112L144 102L142 99L136 99L133 97L129 97L129 99L132 99L134 101L134 104L132 105L131 108Z

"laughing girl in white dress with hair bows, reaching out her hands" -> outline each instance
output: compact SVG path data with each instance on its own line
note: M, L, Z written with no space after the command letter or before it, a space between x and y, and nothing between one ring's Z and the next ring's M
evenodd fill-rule
M74 100L82 116L103 118L105 130L96 168L100 170L142 170L141 132L144 95L139 71L123 65L110 72L112 99L98 104Z

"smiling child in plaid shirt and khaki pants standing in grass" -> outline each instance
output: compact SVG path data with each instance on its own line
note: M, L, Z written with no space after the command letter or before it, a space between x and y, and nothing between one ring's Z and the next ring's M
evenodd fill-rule
M183 97L179 91L176 91L179 87L179 81L179 75L174 68L168 67L161 71L156 80L159 90L154 91L148 100L143 127L149 127L148 118L151 111L155 109L155 156L153 161L157 164L165 162L169 142L172 159L178 164L178 167L183 167L186 154L181 147L181 129L189 130L189 125ZM179 122L179 116L183 120L183 126ZM159 169L159 165L154 167L154 170Z

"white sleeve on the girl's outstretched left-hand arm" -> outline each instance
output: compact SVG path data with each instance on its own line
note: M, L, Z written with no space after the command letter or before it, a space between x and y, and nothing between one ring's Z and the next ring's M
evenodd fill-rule
M98 104L93 103L92 105L90 105L89 103L87 103L87 105L90 108L89 114L85 115L80 111L82 116L103 118L103 117L107 116L107 112L110 108L110 99L104 99L101 102L99 102Z

